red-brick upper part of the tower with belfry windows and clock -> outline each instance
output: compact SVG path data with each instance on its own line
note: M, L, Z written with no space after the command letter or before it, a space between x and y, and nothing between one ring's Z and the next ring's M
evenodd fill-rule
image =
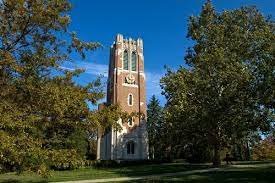
M110 50L107 103L128 112L146 115L145 74L142 39L123 39L118 34ZM134 120L139 125L141 119Z

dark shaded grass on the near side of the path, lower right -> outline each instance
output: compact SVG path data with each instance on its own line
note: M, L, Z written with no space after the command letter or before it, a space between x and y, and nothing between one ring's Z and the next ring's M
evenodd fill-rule
M253 166L254 165L254 166ZM131 181L133 182L133 181ZM221 171L196 173L190 175L162 177L148 180L135 181L145 182L187 182L187 183L274 183L275 164L255 163L242 166L227 167Z

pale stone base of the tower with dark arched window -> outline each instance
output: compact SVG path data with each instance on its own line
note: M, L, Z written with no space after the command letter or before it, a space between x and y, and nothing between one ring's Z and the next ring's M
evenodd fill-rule
M122 125L121 131L112 129L110 132L98 137L97 159L99 160L147 160L148 134L146 123L141 122L130 131Z

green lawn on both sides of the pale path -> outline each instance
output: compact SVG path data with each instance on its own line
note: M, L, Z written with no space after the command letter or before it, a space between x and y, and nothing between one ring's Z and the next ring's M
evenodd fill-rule
M201 171L202 170L202 171ZM179 172L179 173L176 173ZM172 173L166 176L165 173ZM176 173L176 174L175 174ZM148 175L164 177L151 177ZM35 174L1 174L0 182L33 183L72 180L94 180L119 177L142 177L143 180L129 182L275 182L275 162L238 162L234 165L213 169L209 164L188 165L182 163L139 165L112 169L81 168L73 171L53 171L51 177L43 179ZM110 179L109 179L110 180Z

